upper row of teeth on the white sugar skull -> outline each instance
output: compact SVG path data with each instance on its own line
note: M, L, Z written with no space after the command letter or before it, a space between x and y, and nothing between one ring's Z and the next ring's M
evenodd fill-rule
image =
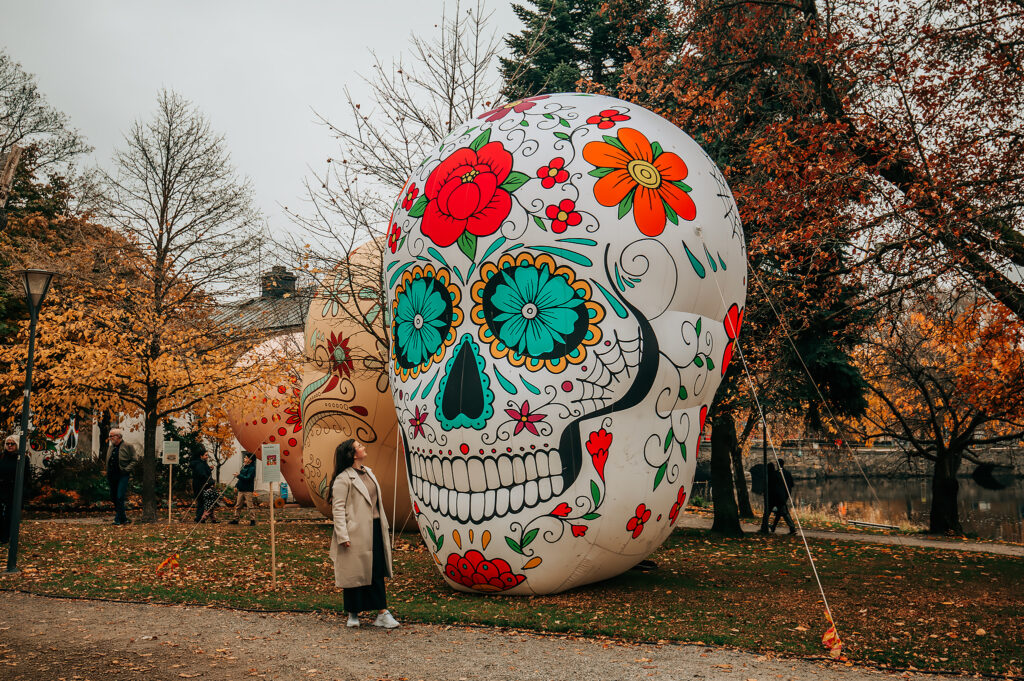
M414 478L422 478L445 490L469 493L497 491L548 477L560 479L562 474L562 460L558 452L466 459L414 454L410 458L410 466ZM561 488L555 494L560 492Z

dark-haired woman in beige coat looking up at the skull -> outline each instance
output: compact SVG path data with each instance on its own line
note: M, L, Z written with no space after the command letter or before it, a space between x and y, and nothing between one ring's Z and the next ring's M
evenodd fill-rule
M334 482L328 501L334 511L331 559L334 582L344 589L348 627L359 626L359 612L380 610L375 627L394 629L387 610L384 578L391 577L391 546L380 484L362 465L367 449L347 439L334 452Z

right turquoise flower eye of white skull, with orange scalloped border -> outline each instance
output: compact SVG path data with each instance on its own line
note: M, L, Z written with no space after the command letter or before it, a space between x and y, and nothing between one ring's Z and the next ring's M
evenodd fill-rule
M550 256L504 255L480 275L471 316L493 357L557 374L583 361L586 346L600 340L604 310L591 300L590 285Z

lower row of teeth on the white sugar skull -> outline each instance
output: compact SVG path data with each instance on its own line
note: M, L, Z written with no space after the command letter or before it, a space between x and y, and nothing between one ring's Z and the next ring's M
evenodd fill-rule
M516 513L556 497L562 492L562 476L552 475L540 480L527 480L511 487L486 492L457 492L438 487L420 477L413 478L416 496L434 511L465 522L479 522L506 513Z

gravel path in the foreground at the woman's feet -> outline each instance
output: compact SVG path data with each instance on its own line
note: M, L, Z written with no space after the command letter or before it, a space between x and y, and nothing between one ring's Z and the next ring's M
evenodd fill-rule
M633 645L500 629L346 629L321 614L0 593L5 681L866 681L876 670L694 645ZM906 675L898 678L909 678ZM926 677L918 677L926 678ZM935 677L950 679L959 677ZM967 677L964 677L967 678Z

